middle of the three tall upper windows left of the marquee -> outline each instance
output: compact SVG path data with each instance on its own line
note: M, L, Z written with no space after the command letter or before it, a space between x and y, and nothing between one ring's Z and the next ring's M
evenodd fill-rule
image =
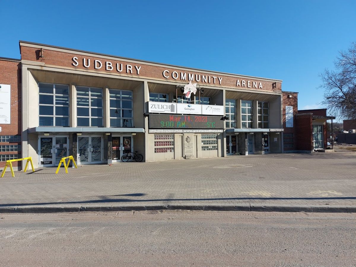
M77 126L103 127L103 89L77 87Z

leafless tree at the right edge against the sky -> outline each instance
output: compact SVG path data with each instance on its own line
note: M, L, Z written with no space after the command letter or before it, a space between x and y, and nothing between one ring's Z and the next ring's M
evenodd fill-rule
M341 51L334 62L335 70L320 74L325 90L324 104L329 112L344 119L356 119L356 43Z

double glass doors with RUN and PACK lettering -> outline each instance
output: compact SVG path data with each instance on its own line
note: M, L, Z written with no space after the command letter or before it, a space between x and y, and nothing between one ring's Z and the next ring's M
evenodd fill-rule
M103 136L78 136L78 164L103 163Z

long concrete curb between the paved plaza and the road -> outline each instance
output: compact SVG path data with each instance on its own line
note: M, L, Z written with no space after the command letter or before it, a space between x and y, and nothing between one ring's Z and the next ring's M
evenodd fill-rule
M143 211L143 210L205 210L205 211L277 211L277 212L331 212L356 213L356 206L338 205L269 205L269 204L237 204L237 205L115 205L115 206L9 206L0 207L0 213L64 213L81 211Z

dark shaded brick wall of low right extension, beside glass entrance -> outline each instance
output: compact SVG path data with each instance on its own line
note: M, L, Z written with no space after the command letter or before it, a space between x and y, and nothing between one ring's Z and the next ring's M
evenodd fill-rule
M313 147L313 114L305 113L296 116L297 150L312 151Z

